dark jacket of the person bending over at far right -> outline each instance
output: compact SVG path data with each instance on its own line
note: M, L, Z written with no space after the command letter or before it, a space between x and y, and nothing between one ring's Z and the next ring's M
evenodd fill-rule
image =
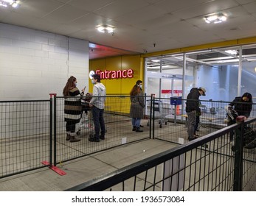
M233 107L234 110L238 112L238 116L246 116L246 118L249 118L252 111L252 99L250 99L249 102L244 102L243 96L235 97L229 106Z

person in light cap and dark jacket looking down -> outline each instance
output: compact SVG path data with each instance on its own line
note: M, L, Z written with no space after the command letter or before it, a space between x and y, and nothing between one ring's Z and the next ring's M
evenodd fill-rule
M204 88L192 88L187 95L186 113L187 113L187 134L188 140L196 139L194 135L196 125L196 113L201 113L199 108L199 96L205 96L206 90Z

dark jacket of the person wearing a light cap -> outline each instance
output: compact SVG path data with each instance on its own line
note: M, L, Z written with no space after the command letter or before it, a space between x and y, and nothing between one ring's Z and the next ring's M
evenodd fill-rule
M190 90L190 93L187 95L187 102L186 102L186 112L192 112L196 110L197 113L200 113L199 108L199 96L200 93L198 91L198 88L192 88Z

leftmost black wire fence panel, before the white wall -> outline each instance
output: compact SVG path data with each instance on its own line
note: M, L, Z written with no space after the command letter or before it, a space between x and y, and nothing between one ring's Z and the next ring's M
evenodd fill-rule
M51 160L50 100L0 102L0 177Z

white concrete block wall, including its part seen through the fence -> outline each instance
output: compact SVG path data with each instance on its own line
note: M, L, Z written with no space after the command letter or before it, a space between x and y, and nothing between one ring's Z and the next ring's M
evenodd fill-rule
M88 41L0 23L0 139L49 136L49 102L1 101L63 96L70 76L88 91ZM58 112L63 121L63 105Z

